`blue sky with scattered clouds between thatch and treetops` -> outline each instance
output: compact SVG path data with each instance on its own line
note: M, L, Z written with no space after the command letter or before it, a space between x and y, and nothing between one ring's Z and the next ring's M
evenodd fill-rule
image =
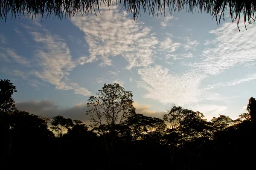
M180 105L210 120L245 112L256 84L256 27L238 31L209 14L131 15L111 7L71 19L9 20L0 26L0 79L17 87L17 107L86 119L104 83L134 93L138 113L161 116Z

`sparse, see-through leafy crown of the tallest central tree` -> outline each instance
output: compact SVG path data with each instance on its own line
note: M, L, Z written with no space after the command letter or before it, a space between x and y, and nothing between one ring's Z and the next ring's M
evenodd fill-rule
M124 122L129 115L135 113L133 106L132 92L117 83L104 84L96 96L90 96L87 106L90 108L87 115L94 127L100 125L119 125Z

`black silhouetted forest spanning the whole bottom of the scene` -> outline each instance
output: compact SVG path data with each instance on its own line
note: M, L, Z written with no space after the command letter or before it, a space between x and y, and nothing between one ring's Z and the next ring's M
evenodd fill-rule
M253 169L256 99L247 113L204 119L172 106L162 119L137 114L133 94L104 85L88 99L90 125L64 116L19 111L16 87L0 81L0 167L85 169Z

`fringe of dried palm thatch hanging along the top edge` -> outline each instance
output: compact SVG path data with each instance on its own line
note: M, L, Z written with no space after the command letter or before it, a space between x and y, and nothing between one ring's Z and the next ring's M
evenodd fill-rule
M99 11L100 6L119 5L133 14L137 19L141 13L150 16L185 10L188 12L206 12L216 18L219 24L224 19L224 12L229 10L232 22L239 25L240 16L244 23L254 23L256 19L256 0L0 0L0 20L6 20L10 14L12 18L53 17L69 18L74 15L89 14Z

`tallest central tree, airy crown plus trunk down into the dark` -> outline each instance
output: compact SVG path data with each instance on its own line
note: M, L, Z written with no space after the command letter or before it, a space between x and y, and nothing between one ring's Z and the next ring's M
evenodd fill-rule
M90 96L87 102L92 126L102 135L102 144L107 151L108 165L113 165L113 144L115 142L116 127L131 114L135 114L133 106L132 92L125 89L117 83L104 84L102 90L96 93L96 96Z

